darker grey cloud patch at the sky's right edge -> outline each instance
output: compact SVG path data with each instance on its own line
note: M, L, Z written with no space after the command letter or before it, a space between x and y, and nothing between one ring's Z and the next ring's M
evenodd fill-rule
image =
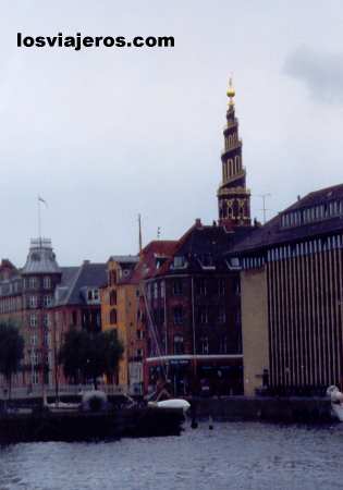
M284 72L302 81L318 102L343 105L343 52L303 46L286 58Z

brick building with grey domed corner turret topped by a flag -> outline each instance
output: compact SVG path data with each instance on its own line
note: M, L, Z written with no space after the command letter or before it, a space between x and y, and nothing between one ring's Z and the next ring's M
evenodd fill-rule
M47 238L30 241L22 269L2 260L0 320L16 323L25 341L13 388L52 388L57 377L65 382L56 363L63 334L71 326L101 329L99 286L105 280L105 264L60 267Z

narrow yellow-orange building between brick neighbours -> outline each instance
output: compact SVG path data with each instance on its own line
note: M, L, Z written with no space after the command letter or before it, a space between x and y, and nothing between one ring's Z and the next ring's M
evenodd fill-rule
M135 391L135 380L130 378L130 362L140 357L135 352L137 338L138 285L132 281L138 256L111 256L108 260L108 282L101 289L102 330L115 329L123 343L124 353L117 379L110 380L125 391Z

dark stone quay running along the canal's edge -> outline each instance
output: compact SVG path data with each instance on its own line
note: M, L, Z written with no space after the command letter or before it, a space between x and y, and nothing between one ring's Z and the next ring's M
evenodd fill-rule
M48 402L52 402L48 397ZM186 417L181 409L140 404L128 406L123 395L109 395L107 406L85 409L79 395L61 396L74 407L50 412L41 397L1 403L0 440L9 442L93 441L125 437L180 436L191 421L196 429L208 421L268 421L283 424L331 424L331 403L323 397L225 396L189 397ZM51 406L51 405L50 405ZM336 421L336 420L335 420Z

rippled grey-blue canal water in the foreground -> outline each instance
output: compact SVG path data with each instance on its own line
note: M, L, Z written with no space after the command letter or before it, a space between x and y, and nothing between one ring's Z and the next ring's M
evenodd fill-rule
M343 424L215 422L181 437L0 449L0 490L343 488Z

